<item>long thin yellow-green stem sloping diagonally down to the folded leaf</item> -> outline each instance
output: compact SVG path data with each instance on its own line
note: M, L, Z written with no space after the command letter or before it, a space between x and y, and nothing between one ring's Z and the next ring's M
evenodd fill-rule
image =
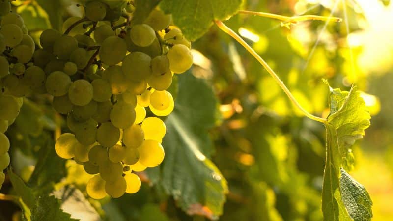
M253 57L269 72L269 74L273 77L273 79L278 83L281 87L281 89L285 92L285 94L288 96L289 100L300 110L303 112L306 117L310 118L311 120L315 120L318 122L326 123L325 118L317 117L306 111L300 104L299 102L295 99L295 97L292 95L292 93L289 91L289 89L286 87L286 85L281 81L280 77L274 72L274 70L266 63L265 60L263 60L254 50L253 48L248 45L236 32L234 32L232 29L227 27L222 21L216 20L215 23L217 26L223 30L225 33L230 35L232 38L234 38L237 42L239 42Z

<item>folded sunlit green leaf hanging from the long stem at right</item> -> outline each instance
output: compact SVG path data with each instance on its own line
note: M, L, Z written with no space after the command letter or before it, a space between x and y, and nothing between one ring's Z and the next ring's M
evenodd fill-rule
M342 169L349 148L365 134L370 114L360 92L330 88L330 115L325 123L327 153L322 187L326 221L371 220L371 199L365 188ZM361 219L359 219L361 217Z

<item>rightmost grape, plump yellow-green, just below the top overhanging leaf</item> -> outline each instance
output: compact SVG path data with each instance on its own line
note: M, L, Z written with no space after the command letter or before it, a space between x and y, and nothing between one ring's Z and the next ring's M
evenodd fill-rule
M191 68L193 55L184 45L175 45L168 51L169 67L174 73L180 74Z

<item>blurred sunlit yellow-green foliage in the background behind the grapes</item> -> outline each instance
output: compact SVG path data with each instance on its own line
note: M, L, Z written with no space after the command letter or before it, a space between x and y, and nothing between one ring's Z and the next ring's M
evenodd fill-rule
M66 8L64 18L80 15L69 0L14 3L21 5L16 10L35 40L43 29L56 24L49 18L53 20L51 13L58 13L59 8ZM341 23L307 21L288 29L279 21L238 14L225 24L252 45L315 115L329 113L328 89L321 79L334 88L349 90L356 84L364 91L371 127L353 148L351 175L370 193L373 220L393 220L393 4L389 0L246 0L242 8L343 18ZM220 117L209 130L214 145L199 148L211 156L227 181L229 191L220 220L322 220L323 125L303 117L260 64L217 27L194 42L193 49L192 74L211 85L219 102ZM198 94L188 96L192 103ZM179 209L162 185L153 185L155 171L140 173L144 184L139 193L86 200L84 185L89 177L80 166L59 158L35 165L37 159L41 162L52 156L52 134L59 133L63 119L55 115L47 98L31 99L34 102L25 101L19 120L8 132L13 138L12 166L25 181L34 168L45 168L36 169L38 175L33 174L35 178L28 182L43 186L43 192L46 185L56 184L55 195L62 199L66 212L86 221L203 221L210 216L209 208L187 211L198 214L194 216ZM205 110L203 103L198 104L193 107ZM57 166L51 170L48 165ZM8 180L1 192L12 191ZM65 193L73 194L67 197ZM12 203L0 201L0 208L0 220L19 219L18 207Z

